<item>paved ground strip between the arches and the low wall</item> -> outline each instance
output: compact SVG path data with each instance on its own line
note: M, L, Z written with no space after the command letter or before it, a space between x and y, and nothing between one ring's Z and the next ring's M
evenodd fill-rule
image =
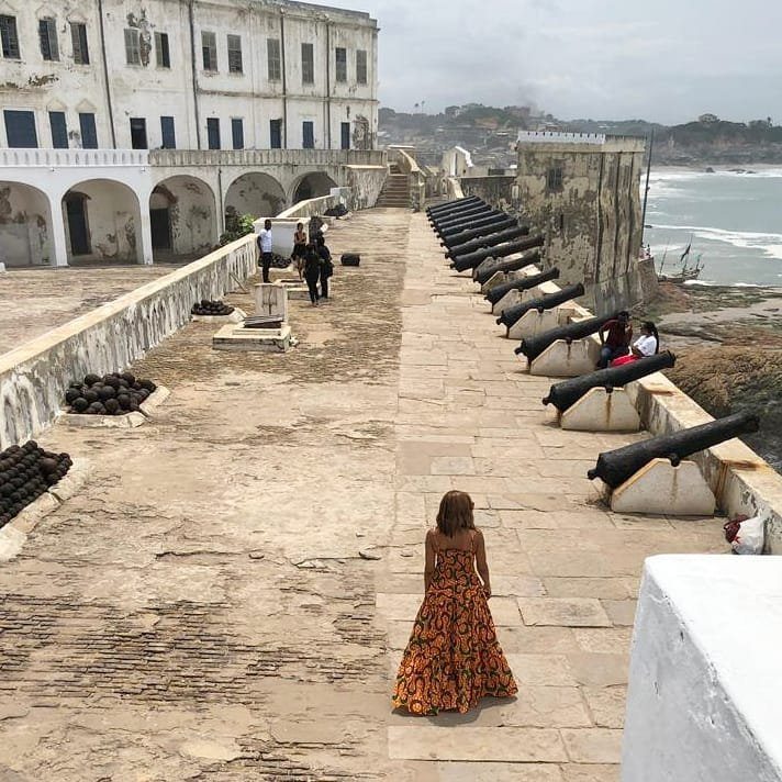
M175 268L118 265L10 269L0 275L0 354Z

